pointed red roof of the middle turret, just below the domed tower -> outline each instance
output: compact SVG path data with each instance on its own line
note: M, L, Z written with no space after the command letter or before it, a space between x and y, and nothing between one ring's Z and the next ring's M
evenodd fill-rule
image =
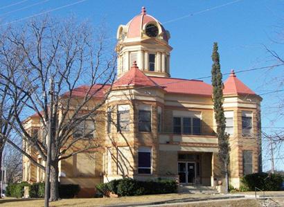
M114 82L114 87L135 86L135 87L156 87L157 84L152 81L147 75L139 70L136 61L121 78Z

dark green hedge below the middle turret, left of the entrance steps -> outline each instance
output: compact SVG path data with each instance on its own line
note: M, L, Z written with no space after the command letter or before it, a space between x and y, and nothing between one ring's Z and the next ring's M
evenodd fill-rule
M102 195L113 192L118 196L154 195L177 192L177 182L172 180L137 181L130 178L100 183L96 189Z

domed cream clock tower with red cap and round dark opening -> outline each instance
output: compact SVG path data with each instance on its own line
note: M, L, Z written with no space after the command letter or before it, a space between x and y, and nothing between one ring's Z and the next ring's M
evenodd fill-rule
M170 33L154 17L141 14L118 27L118 78L130 70L134 61L145 75L170 77Z

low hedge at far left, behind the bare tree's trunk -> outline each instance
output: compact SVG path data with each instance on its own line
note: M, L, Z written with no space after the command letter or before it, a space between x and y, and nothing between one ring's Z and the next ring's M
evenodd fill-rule
M44 183L33 183L29 184L27 182L21 183L10 183L6 187L6 196L8 197L23 197L24 196L24 186L29 186L29 195L31 198L42 198L44 197ZM61 198L73 198L78 195L80 191L79 185L66 184L59 185L59 195Z

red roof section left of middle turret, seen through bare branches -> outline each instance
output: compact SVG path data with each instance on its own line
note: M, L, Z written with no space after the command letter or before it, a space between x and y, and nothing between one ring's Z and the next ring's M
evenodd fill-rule
M89 91L90 96L94 96L94 98L103 98L105 96L105 91L109 89L110 85L106 84L94 84L91 89L90 86L82 85L72 91L72 97L84 97L86 93ZM70 91L64 93L62 96L69 96Z

